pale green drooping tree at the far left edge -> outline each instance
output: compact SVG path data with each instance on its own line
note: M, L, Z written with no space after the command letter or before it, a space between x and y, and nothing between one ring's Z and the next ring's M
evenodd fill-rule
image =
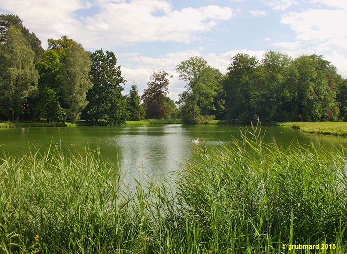
M22 114L22 105L37 91L38 73L34 52L20 29L10 26L6 43L1 47L0 101L1 110L14 120Z

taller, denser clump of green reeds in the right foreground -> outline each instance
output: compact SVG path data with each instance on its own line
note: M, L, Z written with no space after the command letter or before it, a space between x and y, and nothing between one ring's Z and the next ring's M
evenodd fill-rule
M281 149L263 144L257 129L247 134L197 151L177 183L201 242L213 253L279 253L280 243L335 243L346 251L343 151L297 143Z

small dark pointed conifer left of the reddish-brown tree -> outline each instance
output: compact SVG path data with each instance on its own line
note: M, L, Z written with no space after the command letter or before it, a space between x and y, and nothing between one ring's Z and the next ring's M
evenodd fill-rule
M127 97L129 119L132 121L138 121L145 119L145 108L140 104L141 97L138 94L137 86L131 85L129 96Z

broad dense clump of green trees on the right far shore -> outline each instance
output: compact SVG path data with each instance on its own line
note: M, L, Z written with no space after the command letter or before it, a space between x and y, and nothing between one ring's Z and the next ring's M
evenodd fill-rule
M228 68L224 89L229 121L336 121L341 77L322 56L288 56L268 51L260 64L238 54ZM342 100L342 99L341 99Z

